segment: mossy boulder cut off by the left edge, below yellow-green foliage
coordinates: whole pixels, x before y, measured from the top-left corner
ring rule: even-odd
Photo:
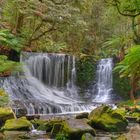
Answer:
[[[2,127],[6,120],[13,118],[15,118],[15,115],[11,108],[0,108],[0,127]]]

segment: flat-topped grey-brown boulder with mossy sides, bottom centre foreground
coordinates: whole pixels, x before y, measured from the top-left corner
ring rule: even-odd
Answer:
[[[81,140],[82,135],[85,133],[95,136],[95,130],[87,124],[85,119],[69,119],[64,121],[62,132],[70,140]]]

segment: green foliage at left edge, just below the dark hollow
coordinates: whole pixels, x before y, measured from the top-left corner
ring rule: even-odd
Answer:
[[[10,74],[13,70],[18,70],[18,68],[19,63],[8,60],[5,55],[0,55],[0,74],[4,72],[9,72]]]

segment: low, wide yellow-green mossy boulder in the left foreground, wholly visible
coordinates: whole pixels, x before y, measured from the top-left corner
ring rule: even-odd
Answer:
[[[32,124],[25,117],[19,119],[10,119],[6,121],[2,129],[7,131],[28,131],[32,129]]]

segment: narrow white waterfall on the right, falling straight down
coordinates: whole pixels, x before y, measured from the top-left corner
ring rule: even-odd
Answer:
[[[112,58],[101,59],[97,65],[97,84],[94,102],[106,103],[110,100],[112,93]]]

